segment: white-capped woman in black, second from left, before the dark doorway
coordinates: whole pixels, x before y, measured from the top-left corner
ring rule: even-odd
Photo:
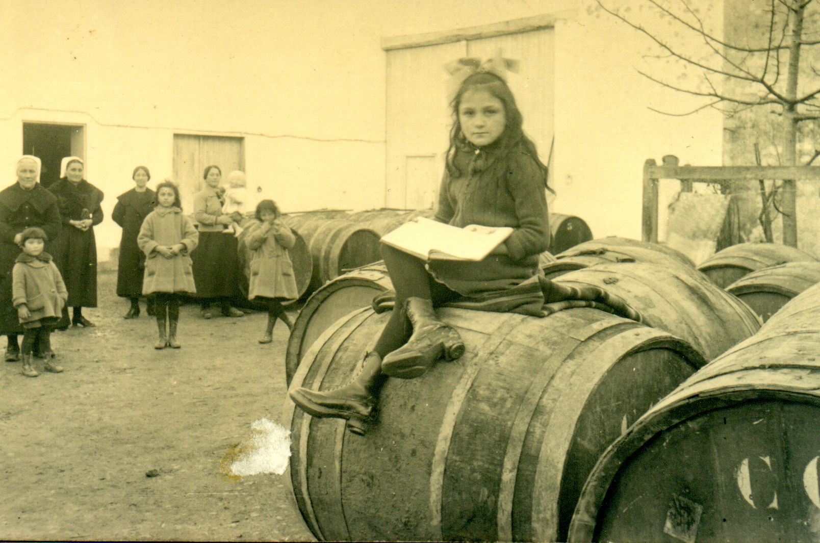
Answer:
[[[83,317],[83,308],[97,307],[97,241],[93,226],[103,221],[103,191],[84,180],[85,164],[80,157],[62,159],[60,179],[48,187],[57,196],[62,230],[54,242],[54,261],[66,281],[68,301],[74,308],[74,326],[94,326]],[[68,326],[68,312],[57,329]]]

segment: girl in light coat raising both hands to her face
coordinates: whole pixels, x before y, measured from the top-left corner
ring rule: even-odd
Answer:
[[[282,302],[299,297],[289,253],[296,238],[280,219],[279,208],[273,200],[258,203],[256,218],[258,222],[248,226],[246,241],[248,249],[253,251],[248,299],[266,303],[267,324],[259,343],[271,343],[277,318],[285,322],[288,330],[293,326]]]

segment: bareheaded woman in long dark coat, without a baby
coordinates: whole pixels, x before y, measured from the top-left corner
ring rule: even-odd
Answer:
[[[116,268],[116,295],[131,300],[125,318],[139,317],[139,296],[143,292],[145,254],[137,246],[139,227],[153,211],[156,194],[148,189],[151,172],[147,167],[134,168],[131,175],[136,186],[117,198],[111,218],[122,227],[120,258]],[[148,315],[152,312],[152,298],[148,298]]]

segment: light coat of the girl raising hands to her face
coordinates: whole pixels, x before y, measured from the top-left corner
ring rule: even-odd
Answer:
[[[257,296],[293,300],[299,297],[290,253],[296,237],[283,221],[248,226],[246,242],[253,251],[248,299]]]

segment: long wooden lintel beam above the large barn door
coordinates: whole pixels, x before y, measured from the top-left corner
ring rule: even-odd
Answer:
[[[462,42],[468,39],[493,38],[505,34],[518,34],[553,28],[555,21],[572,18],[577,10],[555,11],[512,21],[503,21],[491,25],[471,26],[468,28],[428,32],[426,34],[407,34],[403,36],[389,36],[381,39],[381,48],[385,51],[424,47],[426,45],[440,45],[441,43]]]

